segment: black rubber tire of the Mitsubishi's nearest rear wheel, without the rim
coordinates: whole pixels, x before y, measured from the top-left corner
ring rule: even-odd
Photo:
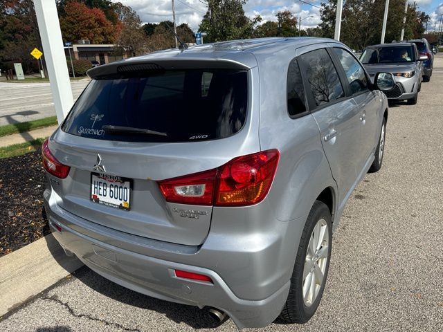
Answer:
[[[314,228],[317,222],[322,222],[322,219],[327,225],[327,261],[325,262],[325,273],[323,274],[323,281],[321,282],[318,295],[316,295],[314,302],[309,306],[305,304],[303,299],[303,270],[305,268],[305,261],[307,259],[307,249],[309,245],[309,240],[311,235],[314,233]],[[324,246],[325,242],[320,248],[326,248]],[[315,201],[312,205],[311,211],[307,217],[305,228],[302,232],[302,237],[300,239],[300,245],[298,246],[296,264],[293,267],[291,286],[289,288],[289,295],[286,303],[283,306],[282,313],[280,317],[289,323],[303,324],[311,319],[311,317],[316,312],[318,305],[320,304],[323,291],[325,289],[327,271],[329,270],[329,261],[331,259],[331,248],[332,248],[332,221],[331,213],[329,208],[325,203],[320,201]]]

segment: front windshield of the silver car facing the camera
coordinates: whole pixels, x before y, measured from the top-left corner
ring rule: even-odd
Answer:
[[[415,53],[413,46],[366,48],[360,60],[363,64],[415,62]]]

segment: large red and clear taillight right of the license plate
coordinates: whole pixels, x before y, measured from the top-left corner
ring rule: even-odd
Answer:
[[[217,169],[159,181],[160,190],[171,203],[252,205],[268,194],[279,157],[277,149],[237,157]]]

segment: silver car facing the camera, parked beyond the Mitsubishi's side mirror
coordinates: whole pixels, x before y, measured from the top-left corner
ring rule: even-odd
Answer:
[[[419,56],[414,43],[368,46],[360,60],[371,78],[379,71],[394,75],[394,89],[384,91],[389,100],[407,100],[408,104],[417,104],[418,93],[422,87],[424,56]]]

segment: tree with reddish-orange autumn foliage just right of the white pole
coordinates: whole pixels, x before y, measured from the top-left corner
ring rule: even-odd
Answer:
[[[100,8],[89,8],[84,3],[69,1],[60,17],[63,39],[77,42],[89,39],[91,44],[114,44],[120,35],[120,21],[112,24]]]

